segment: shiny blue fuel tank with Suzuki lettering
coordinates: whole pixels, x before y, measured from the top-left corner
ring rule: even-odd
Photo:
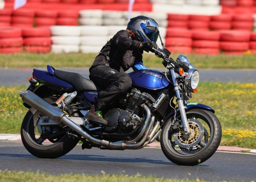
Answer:
[[[157,70],[137,70],[129,73],[132,79],[132,86],[143,87],[150,90],[158,90],[169,85],[168,80]]]

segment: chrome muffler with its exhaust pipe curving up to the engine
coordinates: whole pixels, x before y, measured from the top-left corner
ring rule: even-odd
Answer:
[[[86,131],[83,130],[82,127],[78,126],[72,120],[67,117],[67,114],[59,110],[57,107],[54,107],[52,104],[46,102],[44,99],[40,98],[38,95],[34,94],[31,91],[21,91],[20,97],[22,98],[23,102],[29,104],[31,107],[35,108],[36,110],[44,113],[49,118],[53,119],[58,124],[65,124],[83,138],[87,139],[88,141],[98,145],[99,147],[106,147],[108,149],[140,149],[143,147],[143,144],[146,142],[148,134],[151,130],[151,127],[154,124],[154,116],[150,117],[151,112],[150,109],[144,104],[143,108],[146,110],[147,115],[145,119],[145,125],[147,126],[143,132],[144,135],[140,142],[130,143],[129,141],[118,141],[118,142],[109,142],[105,140],[100,140],[94,138],[93,136],[89,135]]]

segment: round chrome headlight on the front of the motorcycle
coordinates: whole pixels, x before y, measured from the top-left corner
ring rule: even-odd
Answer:
[[[195,90],[199,83],[199,72],[196,69],[188,70],[188,77],[185,78],[186,85],[189,90]]]

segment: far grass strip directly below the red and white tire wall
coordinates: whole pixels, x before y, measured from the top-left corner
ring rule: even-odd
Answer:
[[[176,60],[179,54],[172,54],[171,57]],[[196,55],[185,54],[196,68],[256,68],[255,54],[246,55]],[[47,64],[53,67],[90,67],[97,54],[30,54],[23,52],[21,54],[1,54],[0,67],[46,67]],[[154,54],[143,54],[143,63],[146,67],[163,67],[162,59]]]

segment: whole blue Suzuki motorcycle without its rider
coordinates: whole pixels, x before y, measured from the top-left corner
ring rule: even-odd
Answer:
[[[154,49],[154,48],[153,48]],[[221,142],[221,124],[211,107],[189,103],[197,91],[199,72],[186,56],[174,61],[163,46],[154,49],[165,72],[129,73],[132,89],[118,98],[103,118],[90,122],[90,110],[100,86],[74,72],[34,69],[30,86],[21,91],[29,108],[21,127],[26,149],[39,158],[58,158],[79,141],[82,149],[141,149],[160,141],[165,156],[178,165],[198,165],[210,158]]]

